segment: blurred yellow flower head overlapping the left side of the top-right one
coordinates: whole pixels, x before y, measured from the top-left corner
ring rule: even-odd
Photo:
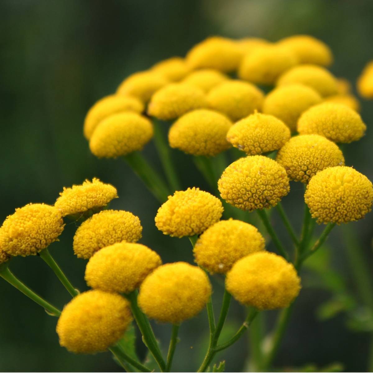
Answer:
[[[286,70],[297,65],[294,53],[286,48],[271,45],[255,48],[245,55],[239,66],[241,79],[257,84],[274,84]]]

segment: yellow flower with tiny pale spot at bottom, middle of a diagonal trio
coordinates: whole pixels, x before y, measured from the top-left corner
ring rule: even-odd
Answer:
[[[213,274],[226,273],[237,260],[261,250],[264,250],[264,238],[257,228],[229,219],[207,228],[193,252],[198,266]]]

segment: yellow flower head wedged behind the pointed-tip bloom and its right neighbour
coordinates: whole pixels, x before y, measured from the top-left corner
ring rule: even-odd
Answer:
[[[319,93],[306,85],[284,85],[275,88],[264,98],[263,113],[278,117],[294,132],[300,115],[321,100]]]

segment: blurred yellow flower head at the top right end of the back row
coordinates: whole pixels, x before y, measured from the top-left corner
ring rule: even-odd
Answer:
[[[279,45],[289,48],[300,63],[329,66],[333,62],[333,53],[323,41],[310,35],[293,35],[283,38]]]

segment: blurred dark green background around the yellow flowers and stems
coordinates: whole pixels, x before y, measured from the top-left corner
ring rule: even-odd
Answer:
[[[271,41],[291,34],[314,35],[332,48],[333,73],[354,83],[367,60],[373,58],[372,15],[370,0],[2,0],[0,220],[29,202],[53,204],[63,186],[97,176],[118,189],[120,198],[111,207],[140,217],[144,227],[142,243],[156,250],[164,262],[192,261],[187,239],[169,238],[156,230],[154,216],[159,204],[127,165],[121,160],[98,160],[91,155],[82,136],[89,107],[112,93],[130,73],[170,56],[183,56],[193,44],[214,34]],[[362,115],[367,135],[345,147],[345,158],[348,165],[373,180],[373,131],[369,128],[372,103],[362,103]],[[144,152],[159,167],[153,144],[147,145]],[[178,152],[175,157],[180,170],[188,169],[182,173],[185,188],[200,186],[208,190],[190,159]],[[291,190],[283,204],[297,224],[303,211],[303,186],[292,183]],[[348,231],[344,231],[345,227],[335,229],[328,247],[323,249],[327,255],[311,263],[321,269],[322,282],[310,269],[311,264],[304,271],[304,288],[275,361],[278,369],[341,362],[347,371],[367,370],[373,322],[369,309],[359,299],[348,253],[356,245],[350,243],[354,241],[353,233],[372,270],[372,222],[371,213],[349,225]],[[276,213],[273,223],[281,233]],[[50,251],[71,281],[84,290],[85,261],[78,260],[72,251],[75,229],[75,223],[69,223],[61,241],[51,245]],[[52,303],[62,307],[69,301],[69,294],[39,257],[15,258],[10,267]],[[213,285],[214,306],[219,307],[222,291],[217,282]],[[345,286],[357,304],[351,297],[345,301],[345,295],[342,300],[338,298],[339,293],[345,293]],[[336,301],[325,305],[332,293]],[[350,306],[348,312],[338,313],[340,308]],[[269,326],[275,316],[276,312],[266,313]],[[244,310],[235,302],[228,319],[229,334],[244,319]],[[108,353],[79,356],[60,348],[56,321],[1,280],[0,370],[120,370]],[[166,349],[170,327],[155,328]],[[174,369],[196,369],[206,349],[206,333],[204,312],[182,325]],[[140,339],[137,347],[143,355]],[[226,358],[226,371],[239,371],[248,369],[248,357],[248,339],[242,338],[216,361]]]

